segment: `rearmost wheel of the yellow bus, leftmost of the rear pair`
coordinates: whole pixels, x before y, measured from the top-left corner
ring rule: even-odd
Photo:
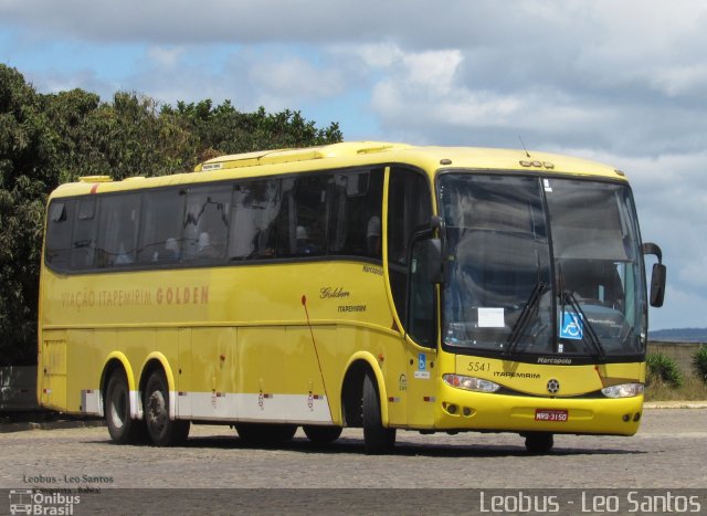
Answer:
[[[130,418],[130,392],[122,371],[114,371],[106,387],[106,424],[113,442],[133,444],[144,442],[146,429],[143,421]]]

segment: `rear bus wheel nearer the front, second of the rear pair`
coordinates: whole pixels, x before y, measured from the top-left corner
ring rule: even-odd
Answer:
[[[147,431],[157,446],[183,444],[189,435],[189,421],[169,418],[169,390],[161,371],[155,371],[145,389],[145,421]]]

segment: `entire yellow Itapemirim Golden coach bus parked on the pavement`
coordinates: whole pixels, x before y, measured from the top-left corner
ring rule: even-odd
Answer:
[[[38,396],[117,443],[209,422],[546,452],[637,431],[664,288],[624,173],[566,156],[368,141],[86,177],[48,204]]]

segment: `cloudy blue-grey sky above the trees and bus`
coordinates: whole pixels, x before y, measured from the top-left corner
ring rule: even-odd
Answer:
[[[625,171],[668,267],[652,329],[707,327],[706,57],[704,0],[0,0],[0,62],[41,93],[289,108],[349,141],[520,137]]]

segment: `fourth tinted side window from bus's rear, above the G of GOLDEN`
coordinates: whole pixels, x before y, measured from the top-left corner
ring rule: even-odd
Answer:
[[[181,222],[186,194],[180,189],[144,193],[137,263],[176,263],[181,257]]]

